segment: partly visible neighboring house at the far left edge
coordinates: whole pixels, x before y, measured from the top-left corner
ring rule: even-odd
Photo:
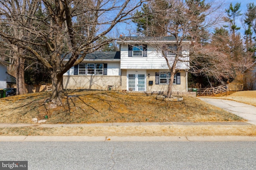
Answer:
[[[7,73],[5,63],[0,63],[0,89],[10,88],[13,84],[16,84],[16,79]]]

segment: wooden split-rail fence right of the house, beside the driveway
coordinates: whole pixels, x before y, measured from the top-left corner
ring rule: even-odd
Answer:
[[[228,91],[227,86],[218,86],[214,88],[200,88],[197,89],[198,96],[214,96],[220,93],[226,93]]]

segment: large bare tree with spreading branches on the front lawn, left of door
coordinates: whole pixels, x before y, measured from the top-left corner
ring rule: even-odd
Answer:
[[[144,0],[2,0],[0,36],[32,54],[51,72],[52,96],[64,98],[63,74],[113,39],[102,41],[117,23],[132,19]],[[17,14],[16,8],[20,9]],[[20,15],[20,18],[16,18]],[[24,22],[27,21],[27,22]],[[14,29],[21,31],[14,35]],[[66,54],[71,57],[66,63]]]

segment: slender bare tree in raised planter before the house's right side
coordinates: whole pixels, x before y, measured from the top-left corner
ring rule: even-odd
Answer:
[[[194,51],[203,48],[202,39],[208,34],[206,30],[216,25],[221,18],[221,15],[214,16],[214,12],[220,8],[221,4],[213,6],[204,0],[186,0],[185,2],[171,0],[170,3],[172,8],[168,11],[167,33],[174,36],[176,42],[171,47],[170,45],[164,45],[162,48],[162,55],[166,59],[171,74],[167,93],[168,98],[172,94],[174,76],[179,71],[177,64],[179,62],[190,63],[192,60],[190,57],[195,56]],[[190,41],[189,44],[188,41]],[[175,58],[171,60],[172,62],[170,62],[165,51],[176,54]]]

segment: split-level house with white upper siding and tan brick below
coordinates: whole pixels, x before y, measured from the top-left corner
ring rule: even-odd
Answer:
[[[156,39],[156,38],[154,38]],[[166,92],[170,72],[162,51],[155,47],[158,43],[170,45],[174,37],[162,37],[152,41],[151,37],[120,37],[117,43],[120,52],[94,52],[86,55],[84,61],[64,74],[66,89],[127,90],[140,92]],[[189,41],[184,41],[189,44]],[[166,53],[170,63],[174,53]],[[182,49],[186,62],[178,62],[178,72],[174,78],[173,92],[187,92],[188,50]],[[186,57],[187,56],[187,57]],[[64,59],[64,62],[67,59]]]

